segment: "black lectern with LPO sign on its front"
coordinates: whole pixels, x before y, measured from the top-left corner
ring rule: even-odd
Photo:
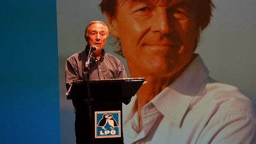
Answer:
[[[144,81],[126,78],[73,82],[67,99],[75,107],[76,144],[123,143],[122,103],[128,104]]]

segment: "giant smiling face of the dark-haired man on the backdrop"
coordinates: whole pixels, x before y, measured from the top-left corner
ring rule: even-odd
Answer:
[[[132,76],[172,75],[189,62],[199,37],[196,14],[184,1],[123,1],[107,20]]]

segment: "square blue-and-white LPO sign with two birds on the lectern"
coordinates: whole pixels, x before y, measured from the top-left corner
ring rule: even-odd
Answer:
[[[121,111],[95,111],[95,138],[121,137]]]

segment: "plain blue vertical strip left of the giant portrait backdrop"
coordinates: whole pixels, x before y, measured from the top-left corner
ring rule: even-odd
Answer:
[[[60,143],[56,1],[1,1],[0,17],[0,143]]]

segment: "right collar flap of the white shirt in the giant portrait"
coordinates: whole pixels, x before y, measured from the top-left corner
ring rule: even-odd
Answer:
[[[164,117],[180,127],[191,101],[208,76],[209,71],[198,55],[187,69],[151,102]]]

